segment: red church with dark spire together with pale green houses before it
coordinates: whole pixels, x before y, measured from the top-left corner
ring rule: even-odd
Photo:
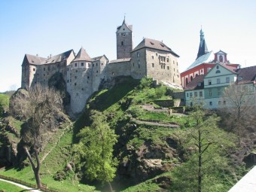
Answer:
[[[248,105],[256,105],[256,66],[241,68],[239,64],[231,63],[223,50],[209,51],[201,29],[197,59],[181,73],[185,105],[191,106],[197,101],[204,108],[227,107],[233,97],[227,96],[227,87],[231,84],[236,85],[236,90],[240,89],[232,93],[242,97],[237,100],[251,99]]]

